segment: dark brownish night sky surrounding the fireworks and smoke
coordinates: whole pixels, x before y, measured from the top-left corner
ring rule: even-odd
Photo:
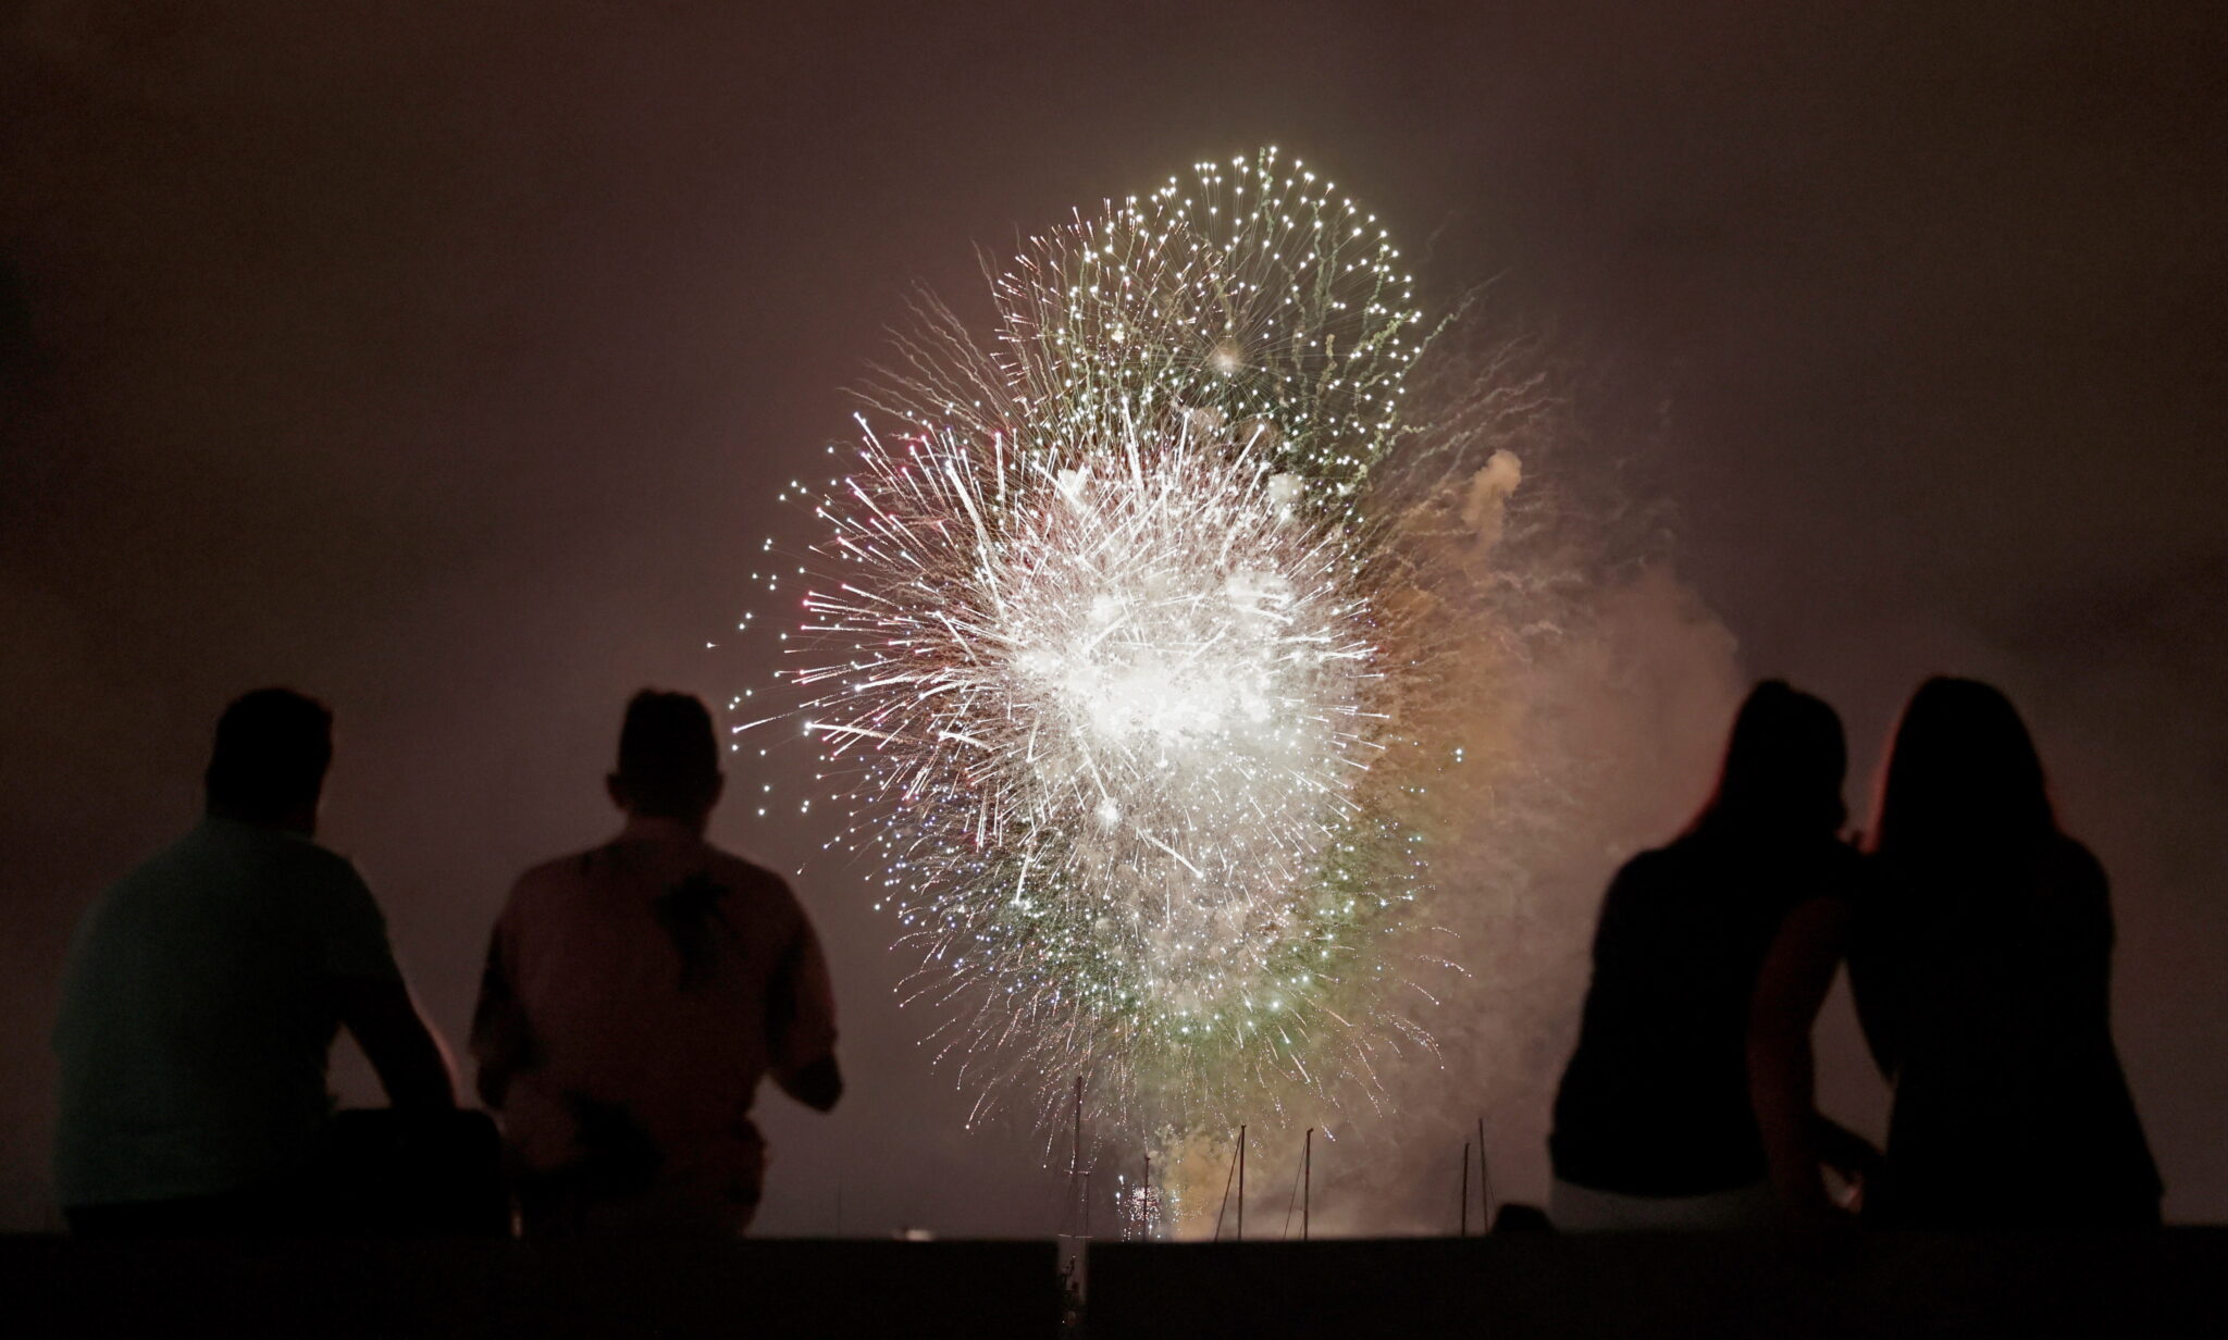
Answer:
[[[1261,142],[1428,296],[1497,280],[1609,370],[1595,410],[1651,430],[1586,452],[1860,768],[1921,674],[2012,692],[2114,875],[2168,1211],[2228,1218],[2206,9],[0,9],[0,1226],[51,1215],[69,926],[192,819],[227,697],[336,706],[328,837],[459,1037],[508,879],[610,826],[624,694],[758,672],[704,643],[905,292]],[[842,1186],[847,1231],[1047,1231],[1056,1180],[960,1133],[844,884],[802,879],[856,1091],[766,1104],[766,1226],[827,1231]]]

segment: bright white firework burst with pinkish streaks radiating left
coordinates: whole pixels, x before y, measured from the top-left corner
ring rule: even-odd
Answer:
[[[1294,890],[1359,812],[1372,650],[1350,545],[1286,476],[1181,418],[1118,456],[991,470],[947,441],[853,481],[869,508],[842,550],[902,530],[938,577],[807,599],[815,630],[885,648],[820,672],[842,690],[813,730],[954,770],[936,790],[905,770],[913,821],[969,835],[969,859],[1005,853],[1014,922],[1087,917],[1101,962],[1134,977],[1116,995],[1150,986],[1212,1028],[1250,1006]]]

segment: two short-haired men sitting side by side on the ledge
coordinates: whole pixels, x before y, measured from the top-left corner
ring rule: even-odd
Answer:
[[[216,728],[203,824],[80,922],[53,1031],[74,1231],[486,1224],[374,1204],[397,1186],[497,1186],[497,1155],[488,1117],[455,1111],[448,1053],[370,888],[314,841],[330,761],[321,703],[238,699]],[[637,694],[608,779],[626,828],[530,870],[504,908],[472,1046],[481,1097],[506,1111],[528,1233],[740,1233],[764,1164],[749,1120],[760,1075],[822,1111],[842,1093],[804,910],[704,841],[722,781],[704,706]],[[343,1026],[408,1131],[374,1122],[365,1140],[352,1113],[332,1120]],[[448,1160],[443,1178],[423,1175],[428,1157]],[[499,1186],[495,1204],[501,1226]]]

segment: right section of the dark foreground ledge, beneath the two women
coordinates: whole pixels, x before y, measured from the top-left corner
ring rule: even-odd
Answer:
[[[1089,1340],[2228,1336],[2228,1229],[1092,1244]]]

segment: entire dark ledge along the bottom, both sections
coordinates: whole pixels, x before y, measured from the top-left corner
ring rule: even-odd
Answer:
[[[1089,1340],[2221,1336],[2228,1229],[1094,1244]],[[1052,1242],[0,1238],[0,1336],[1054,1340]]]

